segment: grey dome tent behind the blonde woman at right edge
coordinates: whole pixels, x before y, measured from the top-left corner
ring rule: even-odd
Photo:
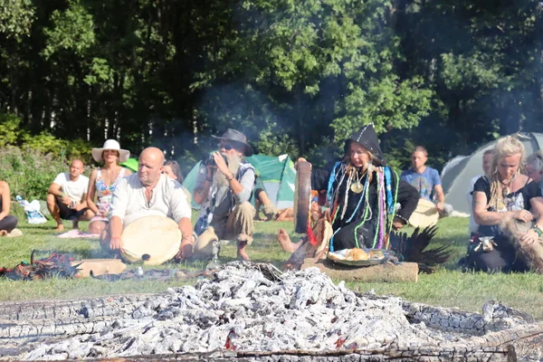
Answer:
[[[543,148],[543,133],[521,133],[520,141],[525,148],[526,156]],[[454,210],[471,214],[466,193],[473,177],[482,173],[482,154],[487,149],[494,148],[496,141],[492,141],[477,149],[470,156],[452,158],[442,171],[442,185],[447,204],[451,204]]]

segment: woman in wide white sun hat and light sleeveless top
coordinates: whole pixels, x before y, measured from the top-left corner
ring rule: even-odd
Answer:
[[[102,148],[92,148],[92,158],[96,162],[103,162],[104,166],[90,173],[87,205],[96,214],[90,220],[90,233],[101,233],[108,225],[113,191],[122,177],[132,174],[128,168],[119,166],[119,163],[126,162],[129,157],[130,152],[121,149],[119,142],[115,139],[108,139]],[[94,196],[96,196],[96,203]]]

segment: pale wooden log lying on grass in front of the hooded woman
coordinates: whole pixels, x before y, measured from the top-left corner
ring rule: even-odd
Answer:
[[[326,260],[314,262],[313,259],[306,259],[301,265],[301,269],[311,267],[319,268],[330,278],[341,281],[418,281],[418,264],[416,262],[402,262],[397,265],[386,262],[363,268],[354,268]]]

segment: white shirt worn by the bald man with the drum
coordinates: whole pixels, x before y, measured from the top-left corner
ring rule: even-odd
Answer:
[[[119,216],[124,226],[127,226],[140,217],[150,215],[167,216],[176,223],[184,217],[190,219],[190,206],[181,184],[166,175],[160,175],[148,203],[145,186],[139,181],[137,173],[122,178],[113,191],[109,218]]]

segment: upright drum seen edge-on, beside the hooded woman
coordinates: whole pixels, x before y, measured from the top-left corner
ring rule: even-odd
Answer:
[[[294,189],[294,231],[307,233],[311,209],[311,164],[299,162]]]

